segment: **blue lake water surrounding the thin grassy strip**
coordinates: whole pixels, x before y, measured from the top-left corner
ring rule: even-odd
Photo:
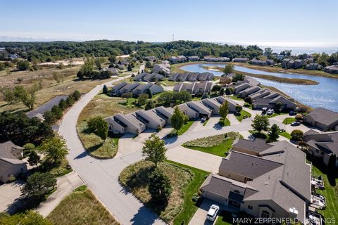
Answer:
[[[214,75],[223,75],[223,72],[205,70],[204,68],[202,68],[202,66],[225,67],[224,64],[198,63],[185,65],[181,69],[189,72],[212,72]],[[299,101],[305,105],[310,105],[313,108],[323,107],[338,112],[338,79],[280,72],[265,72],[261,70],[244,68],[238,65],[234,66],[234,70],[250,72],[252,74],[273,75],[276,77],[311,79],[315,82],[319,82],[318,85],[299,85],[283,84],[279,82],[273,82],[267,79],[255,78],[259,82],[261,82],[261,84],[274,86],[275,88],[280,89],[280,91],[283,91],[285,94],[296,99],[296,101]]]

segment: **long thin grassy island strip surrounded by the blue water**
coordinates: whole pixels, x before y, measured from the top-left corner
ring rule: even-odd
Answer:
[[[216,67],[216,66],[204,66],[202,67],[205,70],[211,70],[211,71],[217,71],[222,72],[223,68]],[[249,76],[249,77],[256,77],[261,79],[267,79],[273,82],[279,82],[284,84],[299,84],[299,85],[317,85],[319,82],[315,82],[311,79],[299,79],[299,78],[286,78],[286,77],[277,77],[273,75],[259,75],[259,74],[253,74],[250,72],[242,72],[238,70],[234,70],[236,73],[242,73],[243,75]]]

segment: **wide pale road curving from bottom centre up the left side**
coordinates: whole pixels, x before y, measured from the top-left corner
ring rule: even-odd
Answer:
[[[140,70],[143,69],[144,67],[140,68]],[[113,82],[125,78],[127,77],[121,77],[105,84],[110,86]],[[77,118],[82,109],[102,90],[103,86],[104,84],[101,84],[89,91],[63,117],[59,134],[63,136],[70,150],[67,155],[68,162],[121,224],[164,224],[156,214],[144,207],[134,195],[127,192],[118,183],[120,172],[128,165],[142,159],[141,151],[136,150],[129,155],[122,155],[120,158],[96,160],[88,155],[77,136]]]

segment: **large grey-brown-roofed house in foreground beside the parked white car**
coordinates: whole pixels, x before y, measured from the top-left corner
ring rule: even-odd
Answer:
[[[232,150],[218,175],[209,175],[202,184],[202,196],[253,217],[304,223],[311,201],[311,165],[305,153],[287,141],[269,145],[263,146],[260,156]]]

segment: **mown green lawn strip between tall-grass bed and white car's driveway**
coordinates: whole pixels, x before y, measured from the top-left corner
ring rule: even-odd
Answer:
[[[184,201],[183,201],[182,210],[180,214],[178,214],[173,221],[173,224],[177,224],[177,225],[182,224],[182,221],[184,221],[184,224],[189,224],[190,219],[192,219],[192,216],[194,215],[194,213],[199,207],[199,205],[197,205],[196,203],[192,201],[192,196],[199,192],[199,187],[201,186],[201,184],[203,184],[209,172],[206,172],[201,169],[196,169],[194,167],[189,167],[187,165],[182,165],[178,162],[172,162],[172,161],[168,161],[168,162],[173,163],[174,165],[183,167],[185,169],[189,169],[190,172],[194,174],[192,181],[190,181],[187,188],[185,188],[184,190]]]

